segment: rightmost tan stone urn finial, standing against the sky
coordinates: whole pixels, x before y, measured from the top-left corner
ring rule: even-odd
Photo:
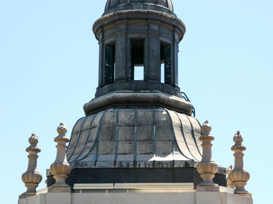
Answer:
[[[250,179],[250,174],[244,169],[244,153],[246,147],[242,145],[243,137],[238,131],[233,138],[235,144],[232,146],[232,151],[234,151],[235,165],[234,170],[230,173],[230,178],[235,187],[234,193],[237,195],[250,197],[250,193],[245,190],[245,186]]]

